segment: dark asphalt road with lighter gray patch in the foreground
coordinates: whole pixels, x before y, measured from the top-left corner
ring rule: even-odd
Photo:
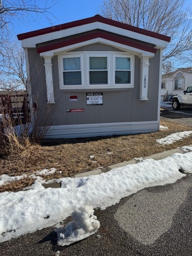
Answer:
[[[0,255],[192,256],[191,199],[192,174],[187,174],[174,184],[145,188],[95,210],[101,227],[81,242],[59,247],[50,227],[1,243]]]

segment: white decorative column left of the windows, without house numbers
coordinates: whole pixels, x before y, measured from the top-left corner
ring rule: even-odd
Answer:
[[[52,63],[51,56],[43,56],[44,58],[44,66],[46,72],[46,87],[47,87],[47,98],[48,103],[55,103],[54,99],[54,90],[53,90],[53,73],[52,73]]]

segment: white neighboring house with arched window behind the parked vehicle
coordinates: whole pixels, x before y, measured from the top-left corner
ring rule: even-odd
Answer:
[[[192,85],[192,68],[178,68],[174,72],[162,75],[161,98],[168,92],[168,100],[173,95],[182,93]]]

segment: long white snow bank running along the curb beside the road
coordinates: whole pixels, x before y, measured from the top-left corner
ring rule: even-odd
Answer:
[[[79,207],[103,210],[143,188],[176,182],[185,176],[179,170],[192,172],[192,152],[145,159],[96,176],[55,180],[61,188],[44,188],[40,179],[30,190],[0,193],[0,242],[48,226],[60,228],[59,222]]]

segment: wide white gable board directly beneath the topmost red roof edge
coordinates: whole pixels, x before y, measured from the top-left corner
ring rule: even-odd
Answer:
[[[140,34],[140,33],[137,33],[137,32],[133,32],[133,31],[123,29],[123,28],[118,28],[116,26],[108,25],[108,24],[105,24],[105,23],[102,23],[102,22],[93,22],[93,23],[90,23],[90,24],[76,26],[76,27],[73,27],[73,28],[67,28],[67,29],[63,29],[63,30],[43,34],[43,35],[40,35],[40,36],[34,36],[34,37],[31,37],[31,38],[23,39],[22,40],[22,47],[24,47],[24,48],[35,48],[36,44],[40,44],[42,42],[48,42],[48,41],[51,41],[51,40],[55,40],[55,39],[63,38],[63,37],[66,37],[66,36],[71,36],[71,35],[87,32],[87,31],[91,31],[91,30],[95,30],[95,29],[105,30],[105,31],[108,31],[108,32],[118,34],[120,36],[127,36],[127,37],[133,38],[135,40],[140,40],[140,41],[143,41],[143,42],[154,44],[156,46],[156,48],[166,48],[166,46],[167,46],[166,41],[160,40],[158,38],[154,38],[152,36],[146,36],[146,35],[143,35],[143,34]]]

